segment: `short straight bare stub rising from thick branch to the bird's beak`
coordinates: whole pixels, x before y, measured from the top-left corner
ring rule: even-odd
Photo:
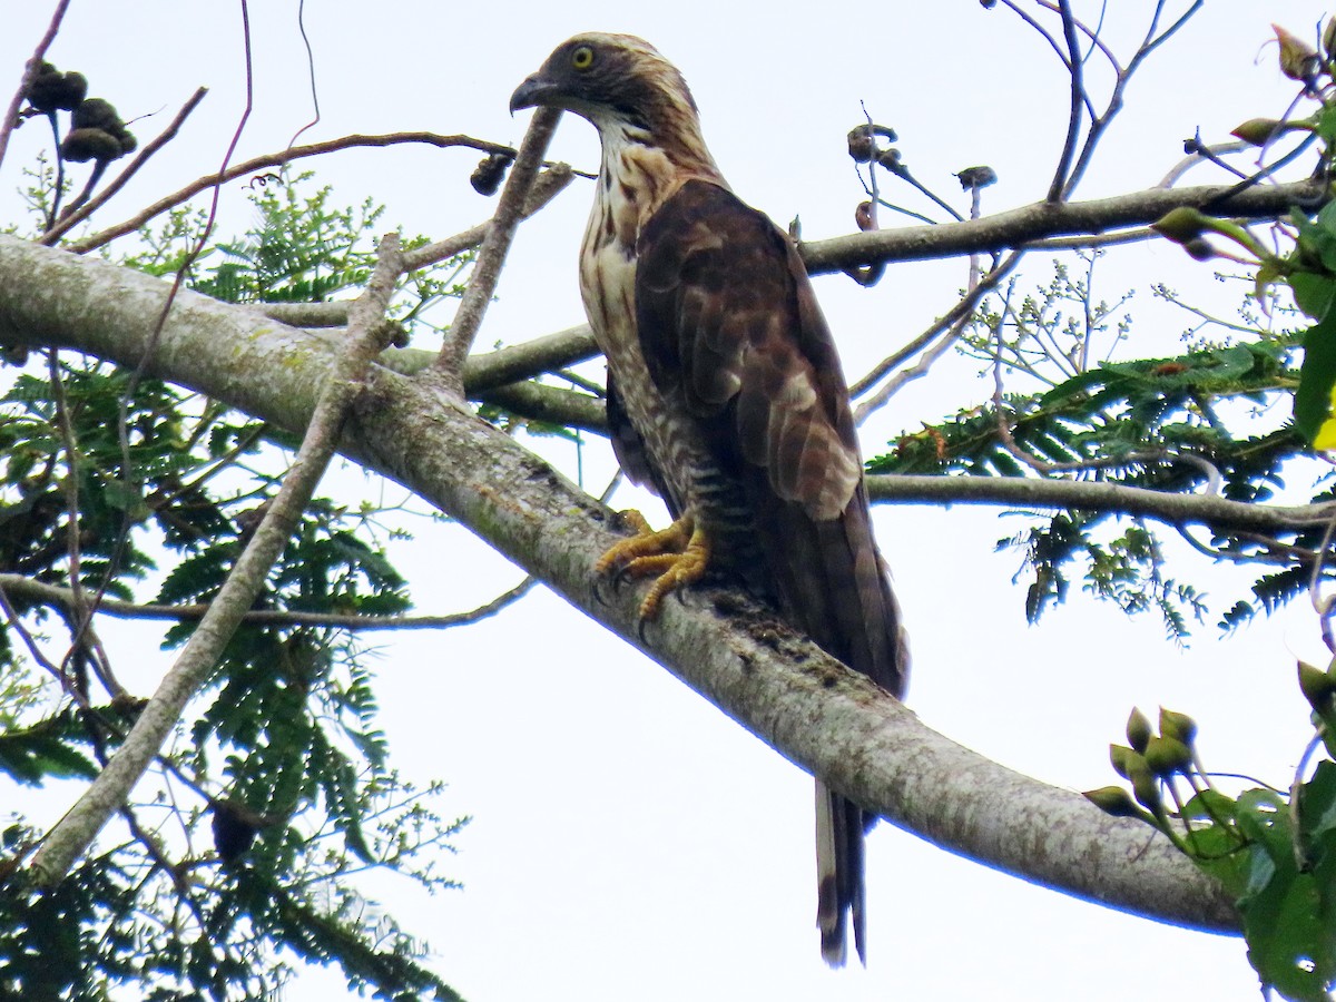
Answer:
[[[542,154],[548,148],[548,143],[552,142],[552,134],[560,120],[560,110],[538,108],[529,122],[529,130],[524,135],[524,142],[520,143],[520,152],[510,168],[510,176],[506,178],[505,187],[501,190],[496,215],[492,218],[488,235],[478,251],[469,289],[454,315],[449,335],[441,346],[441,355],[437,358],[433,377],[456,399],[464,399],[464,359],[469,355],[473,338],[482,325],[484,314],[486,314],[488,303],[492,302],[492,294],[501,278],[501,267],[510,250],[514,230],[524,218],[529,190],[538,176]]]

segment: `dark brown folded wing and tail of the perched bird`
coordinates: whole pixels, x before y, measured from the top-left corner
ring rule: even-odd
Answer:
[[[908,663],[848,390],[790,240],[725,188],[685,183],[641,232],[636,319],[655,383],[669,399],[680,391],[717,468],[743,485],[782,613],[900,696]],[[832,962],[846,911],[863,954],[863,831],[874,820],[818,786],[818,918]]]

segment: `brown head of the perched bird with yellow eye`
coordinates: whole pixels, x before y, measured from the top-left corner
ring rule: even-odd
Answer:
[[[672,63],[632,35],[589,32],[557,45],[510,96],[510,112],[564,108],[603,130],[625,124],[651,135],[695,126],[696,102]]]

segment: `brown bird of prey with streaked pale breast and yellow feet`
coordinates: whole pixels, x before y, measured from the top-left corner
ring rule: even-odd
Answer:
[[[588,119],[603,142],[580,290],[608,359],[627,474],[673,522],[613,546],[600,574],[669,592],[744,585],[823,649],[902,696],[899,609],[872,538],[835,343],[792,240],[745,206],[701,138],[681,73],[641,39],[577,35],[510,98]],[[633,514],[633,513],[632,513]],[[866,962],[863,835],[875,816],[816,783],[822,955]]]

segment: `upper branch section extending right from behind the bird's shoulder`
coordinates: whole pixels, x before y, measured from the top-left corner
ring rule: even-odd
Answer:
[[[888,261],[931,261],[965,254],[986,254],[1050,236],[1096,234],[1146,226],[1170,208],[1192,206],[1218,216],[1269,219],[1292,206],[1316,208],[1328,199],[1321,183],[1255,186],[1224,198],[1229,186],[1149,188],[1130,195],[1053,204],[1037,202],[1021,208],[939,226],[850,234],[799,246],[807,270],[816,274]]]

